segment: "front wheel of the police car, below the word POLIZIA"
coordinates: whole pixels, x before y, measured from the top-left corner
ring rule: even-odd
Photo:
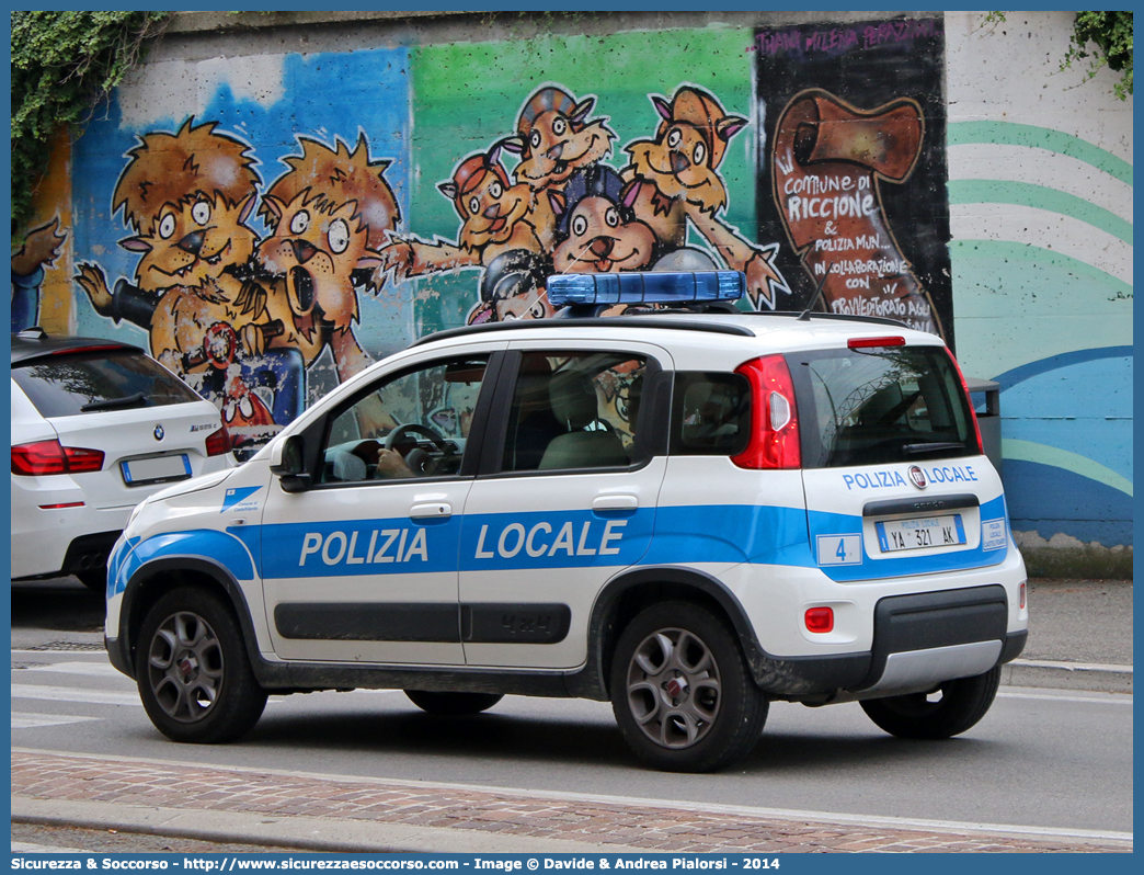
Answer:
[[[173,741],[233,741],[254,728],[267,705],[235,612],[194,586],[172,590],[148,612],[135,679],[151,723]]]

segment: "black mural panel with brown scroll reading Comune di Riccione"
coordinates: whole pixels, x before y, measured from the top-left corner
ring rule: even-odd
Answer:
[[[760,234],[789,242],[792,304],[821,286],[820,309],[952,345],[940,22],[761,29],[754,49]]]

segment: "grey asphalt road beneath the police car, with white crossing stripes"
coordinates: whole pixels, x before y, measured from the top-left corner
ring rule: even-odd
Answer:
[[[97,630],[98,605],[55,584],[14,590],[13,733],[19,748],[339,775],[564,790],[675,803],[1130,831],[1131,697],[1006,687],[946,742],[906,742],[857,704],[776,703],[754,752],[715,775],[635,764],[606,703],[506,697],[474,718],[429,717],[400,692],[271,699],[240,743],[178,746],[153,730],[102,653],[35,648]],[[85,618],[86,617],[86,618]],[[92,636],[93,638],[95,636]]]

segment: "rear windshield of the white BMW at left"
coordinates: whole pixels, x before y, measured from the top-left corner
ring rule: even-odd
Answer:
[[[13,368],[11,376],[46,419],[200,400],[175,375],[138,353],[55,355]]]

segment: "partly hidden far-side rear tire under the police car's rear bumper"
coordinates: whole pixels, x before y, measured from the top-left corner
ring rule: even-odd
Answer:
[[[899,739],[948,739],[974,726],[993,704],[1001,667],[947,680],[934,693],[911,693],[859,702],[880,728]],[[939,696],[939,697],[934,697]]]

